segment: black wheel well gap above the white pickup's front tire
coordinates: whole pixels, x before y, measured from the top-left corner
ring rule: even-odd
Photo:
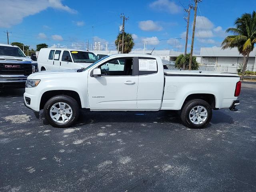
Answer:
[[[72,90],[50,90],[50,91],[46,91],[46,92],[44,92],[44,94],[42,94],[42,97],[41,97],[41,100],[40,100],[40,110],[44,108],[44,105],[46,104],[46,102],[50,98],[52,98],[56,95],[68,95],[68,96],[74,98],[78,102],[80,109],[82,108],[80,96],[76,91],[72,91]]]

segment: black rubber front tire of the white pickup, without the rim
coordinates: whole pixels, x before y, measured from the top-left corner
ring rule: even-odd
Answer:
[[[64,102],[72,108],[72,116],[70,120],[68,120],[67,122],[63,122],[63,123],[55,122],[50,116],[50,108],[58,102]],[[65,128],[65,127],[70,127],[72,124],[74,124],[78,120],[79,112],[80,112],[79,110],[80,110],[79,104],[74,98],[67,95],[57,95],[50,98],[44,105],[44,117],[50,125],[58,128]]]

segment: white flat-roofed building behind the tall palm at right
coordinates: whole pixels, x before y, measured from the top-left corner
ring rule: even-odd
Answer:
[[[226,72],[230,73],[236,73],[244,59],[237,48],[222,50],[221,47],[201,48],[200,57],[200,63],[225,68]],[[249,55],[247,70],[256,71],[256,48]]]

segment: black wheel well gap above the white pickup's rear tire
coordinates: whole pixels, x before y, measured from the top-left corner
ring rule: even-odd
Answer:
[[[216,98],[215,98],[214,94],[196,93],[196,94],[190,94],[189,96],[186,97],[186,99],[182,105],[182,108],[189,100],[192,100],[192,99],[202,99],[202,100],[208,102],[212,109],[214,109],[216,106]]]

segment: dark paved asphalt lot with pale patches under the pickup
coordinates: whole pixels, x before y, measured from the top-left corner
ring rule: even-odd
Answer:
[[[255,83],[204,129],[170,112],[82,112],[53,128],[23,92],[0,92],[1,192],[256,191]]]

